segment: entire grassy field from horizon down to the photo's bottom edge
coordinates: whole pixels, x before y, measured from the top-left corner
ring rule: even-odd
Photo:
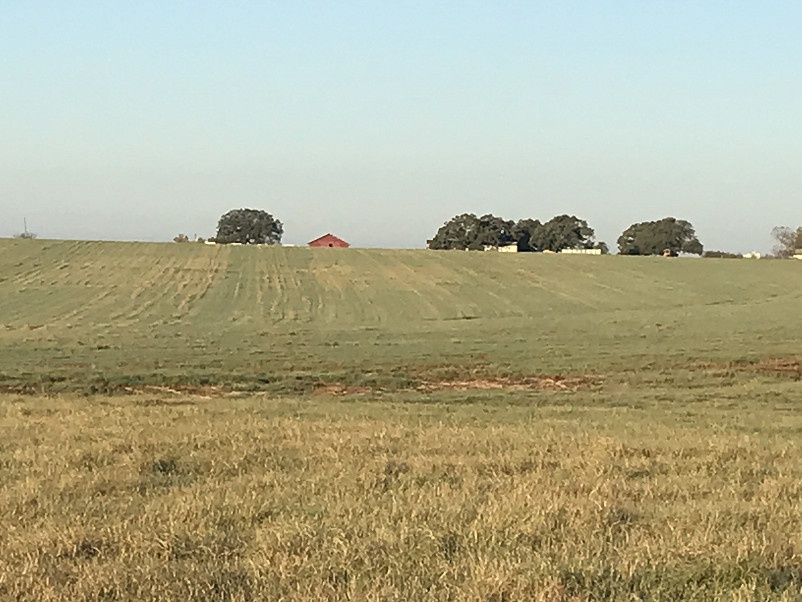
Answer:
[[[0,600],[802,599],[802,262],[0,240]]]

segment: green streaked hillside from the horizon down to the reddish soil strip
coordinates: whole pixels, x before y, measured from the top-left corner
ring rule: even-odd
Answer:
[[[0,387],[282,392],[760,361],[798,353],[800,308],[790,260],[5,239]]]

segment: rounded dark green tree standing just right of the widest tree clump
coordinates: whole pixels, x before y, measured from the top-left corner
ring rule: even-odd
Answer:
[[[666,250],[701,255],[703,247],[691,223],[674,217],[632,224],[618,237],[622,255],[660,255]]]

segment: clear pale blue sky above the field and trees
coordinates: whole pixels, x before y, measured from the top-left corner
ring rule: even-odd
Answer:
[[[0,236],[210,236],[265,209],[421,247],[576,214],[615,246],[802,225],[802,2],[0,2]]]

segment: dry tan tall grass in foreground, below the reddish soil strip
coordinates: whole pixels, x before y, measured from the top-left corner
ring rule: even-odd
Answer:
[[[0,599],[802,599],[782,398],[483,395],[0,398]]]

